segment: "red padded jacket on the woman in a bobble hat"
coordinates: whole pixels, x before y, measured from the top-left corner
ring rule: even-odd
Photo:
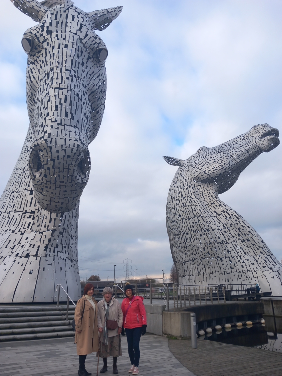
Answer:
[[[128,298],[124,298],[121,303],[121,310],[123,311],[124,323],[123,327],[126,329],[134,329],[147,325],[146,310],[143,303],[142,296],[135,296],[132,303]],[[127,314],[127,307],[130,305]]]

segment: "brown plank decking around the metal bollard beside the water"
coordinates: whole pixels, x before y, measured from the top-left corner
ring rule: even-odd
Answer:
[[[171,353],[197,376],[281,376],[282,353],[208,340],[168,340]]]

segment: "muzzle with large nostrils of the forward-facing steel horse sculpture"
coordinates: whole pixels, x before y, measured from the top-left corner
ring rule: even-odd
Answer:
[[[52,144],[52,138],[50,144],[39,140],[29,157],[34,196],[39,205],[53,212],[73,209],[89,178],[88,148],[79,144],[75,136],[69,138],[66,147],[56,141]]]

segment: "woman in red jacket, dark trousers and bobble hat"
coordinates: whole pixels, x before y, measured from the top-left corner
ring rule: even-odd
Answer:
[[[127,282],[125,286],[126,298],[121,303],[121,310],[123,311],[123,328],[126,332],[128,355],[131,362],[131,368],[128,372],[133,375],[138,375],[140,350],[139,341],[141,335],[146,333],[147,320],[146,311],[142,296],[135,296],[133,293],[133,286]],[[121,335],[124,334],[122,328]]]

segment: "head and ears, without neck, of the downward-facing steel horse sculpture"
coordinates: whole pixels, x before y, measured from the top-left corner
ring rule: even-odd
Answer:
[[[105,108],[108,50],[95,30],[106,29],[122,7],[86,13],[70,0],[11,1],[38,22],[22,39],[34,195],[43,209],[67,212],[87,184],[88,145]]]

